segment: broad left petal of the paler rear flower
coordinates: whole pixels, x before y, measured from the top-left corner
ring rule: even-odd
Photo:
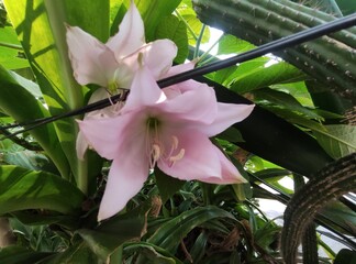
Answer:
[[[118,67],[113,53],[78,26],[67,26],[66,37],[74,76],[78,84],[107,87]]]

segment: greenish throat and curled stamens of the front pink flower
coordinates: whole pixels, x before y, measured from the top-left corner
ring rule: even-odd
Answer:
[[[170,136],[170,142],[163,142],[159,138],[160,121],[148,118],[146,128],[146,154],[149,156],[149,168],[153,169],[158,161],[163,161],[171,167],[185,156],[185,148],[179,148],[179,140],[176,135]],[[165,144],[166,143],[166,144]],[[168,150],[165,146],[169,146]]]

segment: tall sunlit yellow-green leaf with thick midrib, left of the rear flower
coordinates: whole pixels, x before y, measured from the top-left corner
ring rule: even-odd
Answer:
[[[4,3],[49,112],[58,114],[82,106],[84,92],[73,77],[65,43],[65,23],[105,40],[109,36],[109,0],[5,0]],[[77,125],[74,119],[60,120],[55,125],[71,173],[86,193],[87,164],[76,157],[75,150]]]

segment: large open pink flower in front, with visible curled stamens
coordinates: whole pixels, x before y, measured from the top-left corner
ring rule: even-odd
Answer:
[[[253,108],[219,103],[211,87],[193,80],[162,90],[146,66],[138,68],[120,114],[78,121],[99,155],[113,160],[98,219],[123,209],[155,165],[185,180],[244,183],[209,138],[248,117]]]

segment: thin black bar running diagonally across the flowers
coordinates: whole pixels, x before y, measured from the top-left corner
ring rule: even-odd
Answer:
[[[318,25],[318,26],[301,31],[293,35],[279,38],[277,41],[272,41],[270,43],[264,44],[259,47],[256,47],[256,48],[248,51],[246,53],[236,55],[234,57],[231,57],[231,58],[227,58],[224,61],[220,61],[220,62],[215,62],[215,63],[212,63],[212,64],[199,67],[199,68],[194,68],[194,69],[188,70],[188,72],[171,76],[169,78],[158,80],[157,84],[159,85],[160,88],[164,88],[164,87],[175,85],[175,84],[178,84],[178,82],[191,79],[191,78],[196,78],[196,77],[199,77],[199,76],[202,76],[202,75],[205,75],[205,74],[225,68],[225,67],[230,67],[232,65],[236,65],[238,63],[247,62],[249,59],[263,56],[267,53],[272,53],[272,52],[280,51],[280,50],[283,50],[287,47],[291,47],[293,45],[301,44],[303,42],[312,41],[314,38],[325,35],[325,34],[330,34],[330,33],[333,33],[333,32],[336,32],[340,30],[344,30],[344,29],[347,29],[353,25],[356,25],[356,13],[334,20],[332,22],[329,22],[329,23],[325,23],[322,25]],[[122,100],[120,95],[111,97],[111,101],[113,101],[113,102],[116,102],[120,100]],[[64,114],[58,114],[58,116],[54,116],[51,118],[37,119],[34,121],[21,122],[18,124],[0,127],[0,130],[15,128],[15,127],[27,127],[21,131],[18,131],[11,135],[4,136],[0,140],[9,139],[15,134],[19,134],[19,133],[22,133],[25,131],[30,131],[32,129],[40,127],[40,125],[43,125],[43,124],[46,124],[49,122],[54,122],[54,121],[63,119],[63,118],[74,117],[74,116],[82,114],[86,112],[94,111],[98,109],[102,109],[102,108],[110,106],[110,103],[111,102],[109,99],[103,99],[103,100],[97,101],[94,103],[88,105],[84,108],[66,112]]]

